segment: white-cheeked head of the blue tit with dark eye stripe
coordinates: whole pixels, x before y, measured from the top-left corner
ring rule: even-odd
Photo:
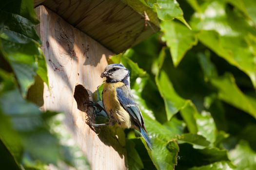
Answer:
[[[110,64],[101,73],[100,77],[106,77],[107,82],[121,82],[129,78],[130,71],[121,64]]]

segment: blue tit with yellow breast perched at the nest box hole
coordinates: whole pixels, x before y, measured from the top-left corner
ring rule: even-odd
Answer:
[[[106,77],[102,102],[110,117],[110,124],[138,130],[151,148],[152,144],[147,136],[144,120],[131,93],[130,71],[121,64],[111,64],[105,68],[100,77]]]

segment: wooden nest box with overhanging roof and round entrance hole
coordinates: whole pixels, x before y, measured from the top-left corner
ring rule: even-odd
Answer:
[[[101,85],[107,59],[157,32],[156,14],[137,0],[35,0],[49,87],[39,78],[30,98],[43,110],[65,113],[64,123],[92,170],[128,168],[122,129],[87,123],[83,102]]]

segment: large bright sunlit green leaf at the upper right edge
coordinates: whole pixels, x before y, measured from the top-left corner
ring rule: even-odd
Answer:
[[[231,65],[244,71],[256,87],[255,54],[251,43],[256,29],[225,1],[207,1],[191,20],[199,41]],[[250,43],[249,43],[250,42]]]

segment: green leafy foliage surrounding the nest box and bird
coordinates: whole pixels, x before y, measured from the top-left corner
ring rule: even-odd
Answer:
[[[131,70],[153,143],[150,151],[125,130],[129,169],[255,170],[256,1],[138,0],[132,6],[141,5],[157,14],[161,31],[111,58]],[[0,2],[1,169],[45,169],[59,161],[88,169],[86,158],[73,154],[78,148],[59,141],[68,137],[56,128],[61,114],[26,100],[36,75],[48,83],[37,23],[32,0]]]

